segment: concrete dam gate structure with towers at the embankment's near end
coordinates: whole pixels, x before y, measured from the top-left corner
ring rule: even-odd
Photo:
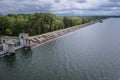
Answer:
[[[30,48],[30,40],[27,33],[21,33],[19,39],[12,39],[11,36],[2,36],[0,44],[0,57],[15,53],[20,48]]]

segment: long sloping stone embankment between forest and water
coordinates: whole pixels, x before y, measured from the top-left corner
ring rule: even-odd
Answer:
[[[73,27],[69,27],[69,28],[65,28],[65,29],[61,29],[61,30],[57,30],[57,31],[53,31],[53,32],[49,32],[49,33],[45,33],[45,34],[41,34],[41,35],[37,35],[37,36],[33,36],[30,37],[30,46],[31,48],[35,48],[38,46],[41,46],[45,43],[48,43],[50,41],[56,40],[58,38],[63,37],[63,35],[69,34],[71,32],[74,32],[76,30],[79,30],[81,28],[87,27],[89,25],[95,24],[97,22],[101,22],[104,19],[101,20],[97,20],[97,21],[92,21],[92,22],[88,22],[85,24],[81,24],[81,25],[77,25],[77,26],[73,26]]]

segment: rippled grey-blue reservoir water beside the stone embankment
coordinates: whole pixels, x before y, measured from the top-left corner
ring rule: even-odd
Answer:
[[[0,80],[120,80],[120,18],[1,58]]]

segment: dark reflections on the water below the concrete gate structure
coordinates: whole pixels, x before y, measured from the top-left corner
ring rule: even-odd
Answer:
[[[22,58],[25,61],[26,59],[29,59],[31,56],[32,56],[31,49],[21,49],[16,51],[15,54],[0,58],[0,64],[5,64],[5,66],[9,67],[15,67],[21,61],[20,58]]]

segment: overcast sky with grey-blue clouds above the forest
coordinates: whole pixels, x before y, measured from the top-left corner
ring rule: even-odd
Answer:
[[[0,13],[120,15],[120,0],[0,0]]]

